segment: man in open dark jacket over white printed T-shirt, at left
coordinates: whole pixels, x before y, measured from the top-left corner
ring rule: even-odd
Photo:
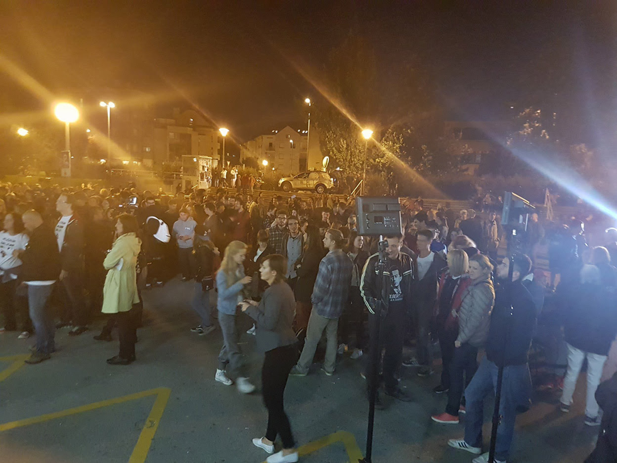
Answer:
[[[60,290],[64,296],[64,313],[58,328],[72,325],[68,334],[77,336],[88,330],[88,312],[83,298],[83,223],[73,213],[75,197],[62,193],[56,211],[62,217],[56,224],[56,240],[60,252]]]

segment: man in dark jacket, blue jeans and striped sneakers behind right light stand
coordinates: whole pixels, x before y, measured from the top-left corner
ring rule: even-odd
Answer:
[[[536,306],[531,294],[523,286],[522,278],[531,270],[531,260],[524,254],[513,258],[512,280],[508,281],[510,259],[497,266],[499,285],[495,288],[495,306],[491,313],[486,357],[465,390],[465,438],[450,439],[451,447],[474,454],[482,453],[482,424],[484,398],[497,386],[497,371],[503,366],[502,395],[497,429],[495,463],[507,461],[514,435],[516,413],[529,408],[531,377],[529,375],[529,347],[536,326]],[[488,454],[474,463],[486,463]]]

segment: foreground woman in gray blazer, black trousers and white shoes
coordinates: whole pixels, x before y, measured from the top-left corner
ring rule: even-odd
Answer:
[[[289,419],[284,411],[283,396],[291,367],[298,359],[296,335],[291,328],[296,315],[294,292],[284,281],[285,259],[280,254],[266,257],[259,269],[262,280],[270,285],[262,300],[244,301],[243,312],[255,320],[257,347],[265,352],[262,367],[263,402],[268,409],[268,429],[253,444],[267,453],[274,452],[274,441],[281,436],[283,449],[266,460],[268,463],[294,463],[298,453]]]

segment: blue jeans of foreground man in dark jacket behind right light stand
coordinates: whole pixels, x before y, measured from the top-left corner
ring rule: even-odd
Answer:
[[[473,447],[482,447],[482,422],[484,421],[484,398],[495,392],[497,365],[486,357],[469,386],[465,390],[465,442]],[[502,395],[499,413],[502,420],[497,429],[495,459],[507,460],[514,435],[516,409],[529,401],[531,377],[529,365],[511,365],[503,369]]]

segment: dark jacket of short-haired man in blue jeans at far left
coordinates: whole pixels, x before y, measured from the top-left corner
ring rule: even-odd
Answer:
[[[39,225],[32,233],[22,259],[21,278],[24,282],[57,280],[60,276],[58,241],[51,228]]]

